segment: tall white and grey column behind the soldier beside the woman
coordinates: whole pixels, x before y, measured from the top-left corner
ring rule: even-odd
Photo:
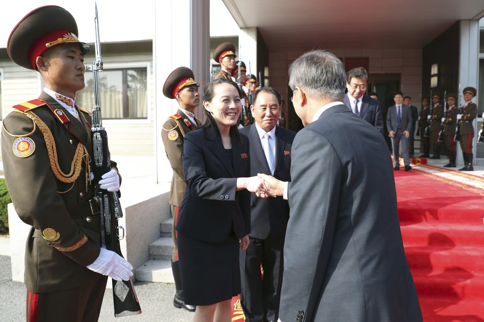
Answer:
[[[164,0],[155,2],[153,64],[155,84],[155,155],[157,182],[170,182],[172,169],[166,158],[161,128],[175,114],[178,103],[163,95],[163,84],[170,73],[186,66],[200,83],[200,94],[208,81],[210,52],[210,1]],[[201,100],[200,100],[201,103]],[[202,118],[201,105],[196,111]]]

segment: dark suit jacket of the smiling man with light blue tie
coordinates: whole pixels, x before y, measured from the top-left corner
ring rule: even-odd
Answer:
[[[247,135],[250,143],[250,175],[257,173],[271,174],[269,165],[260,143],[255,123],[241,128],[241,133]],[[282,181],[290,181],[290,151],[295,132],[276,126],[276,169],[274,177]],[[286,233],[289,219],[289,204],[282,197],[262,199],[254,194],[251,208],[250,236],[266,239],[269,234],[276,239]]]

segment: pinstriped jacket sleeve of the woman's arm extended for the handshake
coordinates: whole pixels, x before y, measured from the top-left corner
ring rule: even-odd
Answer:
[[[185,136],[183,167],[190,195],[194,198],[235,201],[237,178],[213,179],[207,175],[205,161],[214,160],[216,157],[209,153],[202,135],[202,131],[195,131]],[[221,196],[229,198],[222,199]]]

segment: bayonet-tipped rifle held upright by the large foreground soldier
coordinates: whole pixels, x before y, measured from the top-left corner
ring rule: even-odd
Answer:
[[[107,144],[106,130],[102,127],[101,107],[99,97],[98,72],[102,71],[101,42],[99,38],[99,22],[97,18],[97,3],[95,2],[96,17],[96,60],[92,66],[86,66],[86,70],[93,72],[94,80],[94,109],[93,125],[91,126],[91,138],[94,150],[94,180],[99,182],[101,175],[111,170],[111,158]],[[99,203],[101,221],[101,246],[116,252],[123,257],[119,241],[124,238],[124,228],[118,225],[118,218],[123,217],[121,204],[116,192],[100,189],[96,183],[94,199]],[[119,230],[122,230],[122,236]],[[124,317],[141,314],[141,307],[136,296],[135,287],[131,278],[129,281],[113,282],[114,316]]]

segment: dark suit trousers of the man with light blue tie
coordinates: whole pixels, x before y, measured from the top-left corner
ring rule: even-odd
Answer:
[[[249,236],[249,247],[241,251],[241,304],[248,322],[279,319],[284,238],[284,235],[277,239]]]

